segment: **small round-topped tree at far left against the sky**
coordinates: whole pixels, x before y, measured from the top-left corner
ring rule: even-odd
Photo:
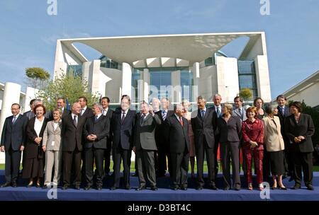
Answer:
[[[50,79],[50,74],[40,67],[26,68],[27,84],[42,90]]]

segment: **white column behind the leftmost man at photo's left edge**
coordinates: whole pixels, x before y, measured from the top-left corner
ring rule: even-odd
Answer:
[[[20,102],[21,85],[18,83],[6,82],[4,85],[4,98],[2,100],[1,117],[0,117],[0,132],[4,127],[6,117],[11,116],[11,105]],[[4,153],[0,153],[0,163],[4,163]]]

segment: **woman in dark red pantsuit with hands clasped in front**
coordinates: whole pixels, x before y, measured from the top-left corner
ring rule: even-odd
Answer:
[[[242,122],[243,151],[247,161],[248,189],[252,190],[252,158],[254,158],[254,171],[257,173],[259,190],[262,185],[262,158],[264,157],[264,123],[257,118],[257,108],[246,110],[247,120]]]

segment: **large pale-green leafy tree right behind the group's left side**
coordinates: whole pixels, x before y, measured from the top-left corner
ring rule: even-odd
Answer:
[[[47,86],[38,92],[38,98],[43,100],[43,103],[47,110],[53,110],[56,106],[56,100],[59,97],[68,100],[71,105],[77,102],[80,96],[87,98],[87,105],[91,106],[93,103],[98,101],[96,95],[92,95],[87,91],[88,84],[86,81],[82,81],[79,76],[62,75],[57,77],[54,81],[49,81]]]

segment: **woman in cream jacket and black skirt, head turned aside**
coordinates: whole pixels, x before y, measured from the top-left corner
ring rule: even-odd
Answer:
[[[272,179],[274,180],[273,189],[277,188],[276,177],[278,177],[279,188],[286,190],[286,187],[282,184],[282,175],[285,172],[284,169],[284,139],[281,136],[281,126],[279,117],[277,114],[277,108],[274,105],[268,105],[265,108],[267,117],[264,117],[264,145],[269,152],[270,168],[272,172]]]

